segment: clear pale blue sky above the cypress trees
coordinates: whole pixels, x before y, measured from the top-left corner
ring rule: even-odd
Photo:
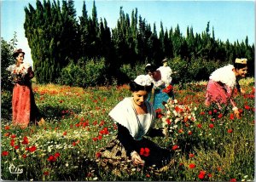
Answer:
[[[43,0],[41,0],[43,2]],[[61,0],[60,0],[61,2]],[[74,0],[77,18],[82,14],[83,0]],[[125,14],[137,8],[137,14],[150,24],[155,23],[160,31],[160,21],[168,31],[180,28],[186,36],[187,27],[193,27],[194,34],[201,33],[210,22],[210,33],[214,28],[214,36],[230,43],[244,41],[248,37],[249,44],[255,44],[255,3],[253,0],[243,1],[173,1],[173,0],[96,0],[97,18],[106,19],[110,28],[116,27],[119,9],[123,7]],[[17,48],[26,52],[25,61],[32,63],[31,49],[28,46],[25,31],[24,8],[31,3],[36,8],[36,0],[0,0],[1,3],[1,37],[9,42],[17,33]],[[85,0],[88,15],[91,16],[93,0]],[[152,30],[153,31],[153,30]]]

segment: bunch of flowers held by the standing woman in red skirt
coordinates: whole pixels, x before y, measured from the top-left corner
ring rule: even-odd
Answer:
[[[10,78],[13,83],[22,83],[25,82],[25,76],[29,67],[31,67],[31,65],[27,63],[22,63],[20,66],[14,64],[9,65],[6,70],[10,72]]]

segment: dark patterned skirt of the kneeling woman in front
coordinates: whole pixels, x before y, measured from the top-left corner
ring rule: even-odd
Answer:
[[[153,141],[146,138],[138,140],[137,142],[137,149],[146,147],[149,149],[148,155],[145,156],[143,156],[140,150],[136,150],[145,161],[145,167],[154,168],[155,171],[161,171],[173,165],[172,151],[161,148],[159,145],[156,145]],[[137,168],[132,164],[130,154],[126,153],[124,146],[117,137],[111,140],[106,147],[103,147],[97,153],[99,156],[96,161],[100,166],[108,170],[121,173],[123,169],[127,172],[129,170],[131,171],[132,168]]]

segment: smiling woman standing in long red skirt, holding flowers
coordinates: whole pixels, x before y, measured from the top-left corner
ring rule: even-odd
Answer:
[[[23,62],[24,55],[21,48],[17,49],[13,54],[16,63],[7,68],[15,84],[12,97],[13,124],[20,128],[26,128],[30,121],[36,122],[36,117],[41,118],[32,93],[31,79],[34,72],[31,65]],[[43,120],[44,118],[41,118],[40,123],[44,122]]]

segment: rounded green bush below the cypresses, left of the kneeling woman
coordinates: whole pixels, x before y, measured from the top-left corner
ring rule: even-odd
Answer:
[[[61,77],[58,82],[60,84],[89,87],[102,85],[106,82],[105,60],[79,60],[78,65],[73,61],[61,71]]]

